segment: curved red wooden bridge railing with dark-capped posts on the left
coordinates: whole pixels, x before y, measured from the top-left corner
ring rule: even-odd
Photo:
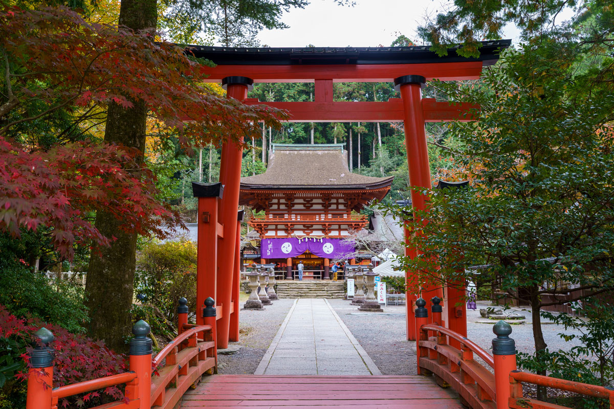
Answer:
[[[187,323],[187,300],[179,300],[179,326],[174,340],[152,359],[150,327],[138,321],[132,328],[130,371],[53,388],[53,334],[41,328],[41,346],[31,352],[26,409],[57,409],[58,400],[97,389],[125,384],[125,400],[93,409],[173,409],[204,373],[217,372],[216,308],[209,297],[203,308],[204,325]],[[153,373],[153,375],[152,375]]]

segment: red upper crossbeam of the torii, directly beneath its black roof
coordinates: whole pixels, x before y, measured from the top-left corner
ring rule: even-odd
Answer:
[[[224,77],[239,75],[254,82],[392,82],[394,78],[411,73],[422,75],[427,80],[439,78],[442,81],[476,80],[482,72],[481,61],[464,63],[429,64],[361,64],[361,65],[291,65],[291,66],[203,66],[201,71],[208,75],[199,78],[203,82],[220,82]]]

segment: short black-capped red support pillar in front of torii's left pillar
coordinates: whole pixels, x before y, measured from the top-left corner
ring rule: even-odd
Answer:
[[[208,297],[217,300],[217,249],[222,235],[219,204],[223,196],[222,183],[192,182],[194,197],[198,197],[198,233],[196,239],[196,324],[204,325],[201,308]]]

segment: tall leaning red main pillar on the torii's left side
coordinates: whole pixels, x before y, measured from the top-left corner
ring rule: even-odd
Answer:
[[[222,88],[226,89],[229,98],[243,101],[247,98],[247,88],[254,80],[247,77],[226,77],[222,80]],[[217,348],[228,348],[230,331],[230,310],[232,301],[233,271],[235,264],[237,209],[239,207],[239,183],[241,180],[241,160],[243,159],[243,136],[239,142],[230,139],[222,144],[222,161],[220,163],[220,182],[224,186],[224,194],[220,206],[220,221],[223,224],[223,239],[217,262],[217,304],[221,305],[222,317],[217,320]],[[235,308],[238,308],[237,305]]]

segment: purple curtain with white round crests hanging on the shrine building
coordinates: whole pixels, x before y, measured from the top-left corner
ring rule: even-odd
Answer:
[[[356,247],[341,239],[262,239],[260,254],[262,258],[296,257],[309,250],[318,257],[335,259],[354,253]],[[349,258],[354,258],[350,256]]]

